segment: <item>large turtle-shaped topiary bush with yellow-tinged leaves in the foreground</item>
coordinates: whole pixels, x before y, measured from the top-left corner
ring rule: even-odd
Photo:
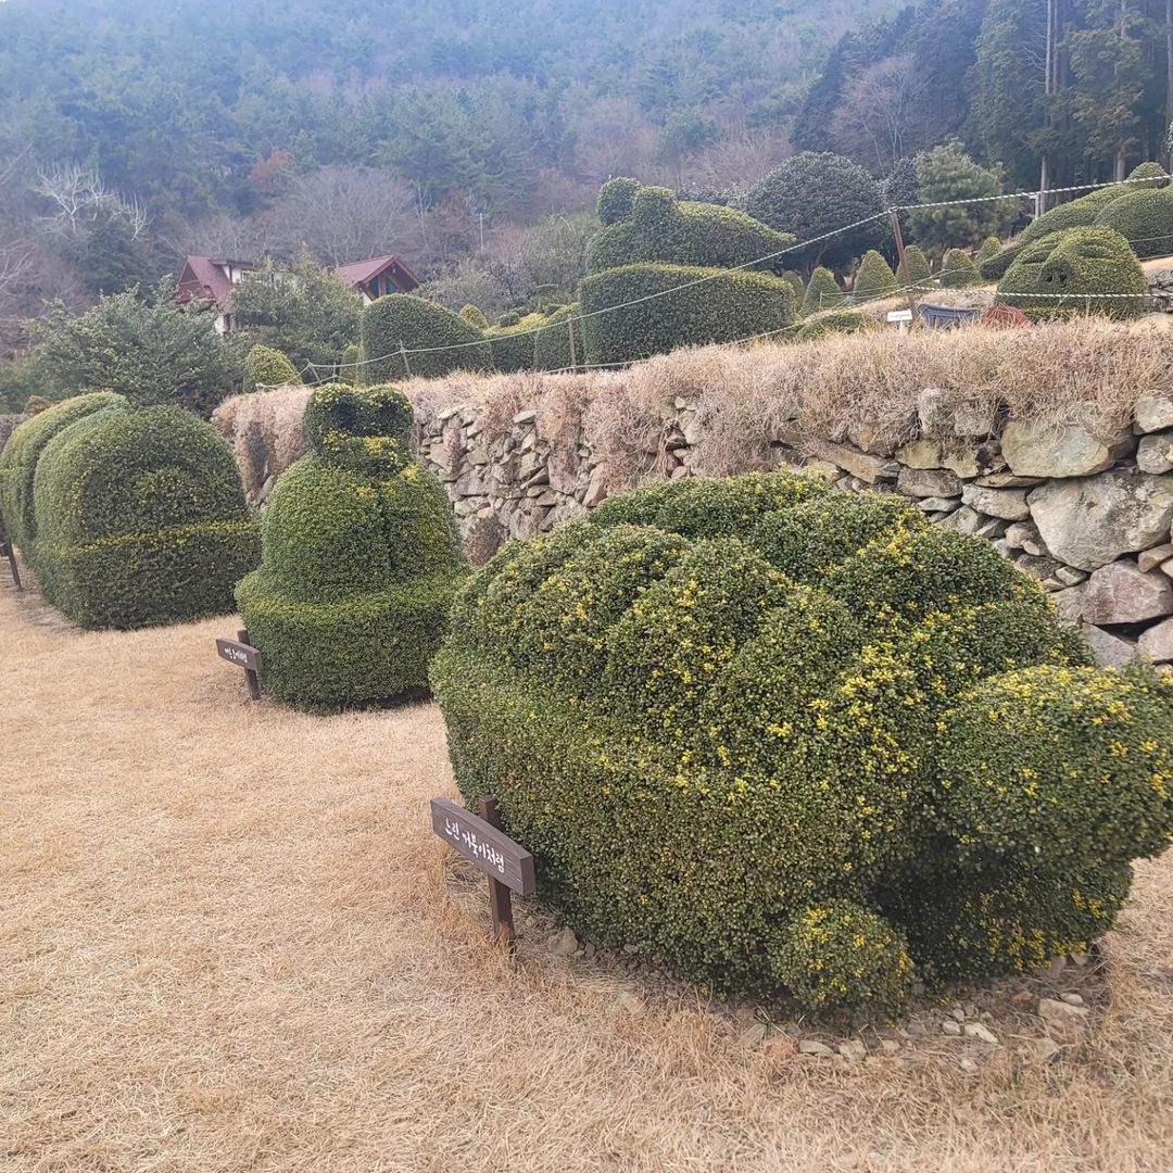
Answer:
[[[889,1011],[1045,964],[1173,835],[1173,677],[907,502],[678,481],[511,544],[432,667],[457,782],[577,929],[726,991]]]

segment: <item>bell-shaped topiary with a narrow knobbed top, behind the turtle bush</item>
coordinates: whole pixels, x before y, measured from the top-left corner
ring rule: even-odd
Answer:
[[[467,571],[440,482],[412,459],[412,407],[394,387],[323,387],[310,453],[278,480],[264,561],[237,588],[262,687],[310,710],[418,696]]]

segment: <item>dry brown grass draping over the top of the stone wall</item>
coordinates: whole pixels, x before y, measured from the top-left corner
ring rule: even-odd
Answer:
[[[804,345],[706,346],[623,371],[456,373],[414,380],[406,389],[423,430],[446,408],[479,407],[486,442],[508,433],[517,412],[536,411],[538,434],[556,459],[574,467],[578,446],[589,446],[613,490],[657,476],[657,454],[680,416],[677,400],[697,409],[698,463],[714,476],[767,467],[771,441],[788,421],[812,438],[841,440],[850,425],[867,423],[882,439],[909,439],[925,387],[1022,418],[1112,426],[1141,395],[1173,387],[1173,333],[1158,328],[1164,324],[1079,320],[1032,330],[974,326],[833,335]],[[266,468],[278,473],[300,454],[307,394],[287,388],[237,396],[217,411],[250,493]]]

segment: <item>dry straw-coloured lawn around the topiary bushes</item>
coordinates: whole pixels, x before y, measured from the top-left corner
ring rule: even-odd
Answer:
[[[81,633],[0,588],[5,1173],[1173,1167],[1173,857],[1100,971],[985,1002],[997,1046],[927,1002],[800,1056],[809,1025],[552,956],[535,906],[511,971],[429,829],[439,712],[249,706],[232,626]],[[1064,990],[1093,1028],[1044,1062]]]

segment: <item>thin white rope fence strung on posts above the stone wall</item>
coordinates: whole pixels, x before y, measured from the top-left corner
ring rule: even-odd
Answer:
[[[972,197],[963,198],[963,199],[944,199],[944,201],[934,201],[934,202],[920,203],[920,204],[899,204],[899,205],[895,205],[895,206],[891,206],[891,208],[887,208],[883,211],[875,212],[872,216],[866,216],[863,219],[855,221],[855,222],[853,222],[850,224],[843,224],[842,226],[832,229],[828,232],[822,232],[822,233],[820,233],[818,236],[809,237],[806,240],[795,242],[794,244],[789,244],[789,245],[787,245],[784,249],[778,249],[774,252],[766,253],[764,257],[758,257],[754,260],[747,260],[747,262],[744,262],[744,263],[741,263],[739,265],[731,265],[727,269],[721,269],[719,272],[706,273],[705,276],[694,278],[693,280],[682,282],[679,285],[673,285],[673,286],[671,286],[670,289],[666,289],[666,290],[657,290],[655,293],[646,293],[643,297],[632,298],[629,301],[621,301],[621,303],[618,303],[616,305],[604,306],[604,307],[602,307],[599,310],[591,310],[588,313],[576,313],[576,314],[572,316],[572,318],[567,318],[567,319],[564,319],[562,321],[545,323],[545,324],[543,324],[541,326],[531,326],[531,327],[529,327],[527,330],[511,331],[508,337],[510,337],[510,338],[524,338],[527,335],[541,334],[541,333],[543,333],[543,332],[545,332],[548,330],[563,330],[563,328],[570,328],[570,330],[572,330],[574,327],[570,325],[571,321],[574,321],[574,323],[586,321],[586,320],[589,320],[591,318],[601,317],[602,314],[617,313],[621,310],[629,310],[629,308],[631,308],[633,306],[643,305],[643,304],[645,304],[647,301],[655,301],[655,300],[657,300],[659,298],[671,297],[671,296],[673,296],[676,293],[682,292],[683,290],[694,289],[694,287],[697,287],[699,285],[705,285],[705,284],[707,284],[710,282],[719,280],[726,273],[738,272],[738,271],[747,270],[747,269],[748,270],[759,269],[762,265],[768,264],[769,262],[780,259],[781,257],[786,257],[786,256],[793,255],[795,252],[802,252],[802,251],[805,251],[807,249],[811,249],[812,246],[814,246],[816,244],[822,244],[823,242],[832,240],[835,237],[845,236],[845,235],[847,235],[849,232],[855,232],[855,231],[857,231],[861,228],[866,228],[867,225],[873,224],[873,223],[875,223],[877,221],[881,221],[881,219],[891,218],[894,215],[897,215],[897,213],[901,213],[901,212],[910,212],[910,211],[918,211],[918,210],[931,210],[931,209],[936,209],[936,208],[968,206],[968,205],[972,205],[972,204],[992,203],[992,202],[996,202],[996,201],[1004,201],[1004,199],[1018,199],[1018,201],[1023,201],[1023,199],[1036,198],[1038,196],[1065,195],[1065,194],[1070,194],[1070,192],[1073,192],[1073,191],[1087,191],[1087,192],[1091,192],[1091,191],[1097,191],[1097,190],[1100,190],[1100,189],[1104,189],[1104,188],[1114,188],[1114,187],[1120,187],[1120,185],[1130,184],[1130,183],[1132,183],[1132,184],[1152,185],[1153,183],[1160,182],[1162,179],[1164,181],[1168,181],[1168,179],[1171,179],[1171,176],[1167,175],[1167,174],[1165,174],[1165,172],[1161,172],[1160,176],[1147,176],[1145,178],[1138,178],[1138,179],[1118,179],[1118,181],[1112,181],[1112,182],[1108,182],[1108,183],[1076,184],[1076,185],[1066,187],[1066,188],[1050,188],[1050,189],[1046,189],[1046,190],[1038,189],[1038,190],[1035,190],[1035,191],[1008,191],[1008,192],[1003,192],[1002,195],[998,195],[998,196],[972,196]],[[1173,238],[1173,233],[1166,233],[1166,235],[1158,236],[1158,237],[1146,237],[1146,238],[1138,239],[1138,240],[1132,242],[1132,243],[1134,243],[1134,244],[1152,243],[1152,242],[1155,242],[1155,240],[1159,240],[1159,239],[1171,239],[1171,238]],[[913,286],[913,289],[915,289],[915,286]],[[909,287],[906,286],[906,289],[903,291],[897,290],[896,293],[897,294],[900,292],[906,292],[907,293],[908,291],[909,291]],[[845,298],[847,296],[848,294],[846,294],[846,293],[843,294]],[[896,294],[884,294],[884,297],[891,297],[891,296],[896,296]],[[1026,294],[1016,294],[1016,296],[1026,296]],[[1031,297],[1063,297],[1064,294],[1030,294],[1030,296]],[[1135,293],[1099,294],[1099,297],[1107,297],[1107,296],[1131,297],[1131,298],[1148,297],[1148,294],[1135,294]],[[854,303],[854,304],[862,304],[862,303]],[[791,328],[791,327],[781,327],[781,330],[779,330],[779,331],[772,331],[771,333],[782,333],[782,332],[785,332],[788,328]],[[299,373],[299,375],[304,377],[304,375],[306,375],[306,374],[308,374],[308,373],[312,372],[312,374],[314,377],[316,384],[320,384],[320,382],[324,381],[324,379],[320,377],[319,372],[324,372],[324,371],[328,372],[328,378],[335,378],[338,375],[338,373],[341,372],[341,371],[357,369],[357,368],[361,368],[361,367],[366,367],[366,366],[372,366],[372,365],[378,364],[378,362],[387,362],[387,361],[389,361],[392,359],[395,359],[395,358],[407,358],[407,359],[409,359],[412,355],[416,355],[416,354],[439,354],[439,353],[452,352],[452,351],[469,350],[472,347],[486,346],[490,341],[491,341],[490,339],[482,338],[482,339],[476,339],[476,340],[470,341],[470,343],[453,343],[453,344],[449,344],[449,345],[446,345],[446,346],[420,346],[420,347],[412,347],[412,348],[408,348],[408,347],[404,346],[402,344],[400,344],[400,346],[398,348],[395,348],[393,351],[389,351],[386,354],[377,355],[375,358],[359,359],[359,360],[357,360],[354,362],[337,362],[337,364],[307,362],[301,368],[301,371],[298,372],[298,373]],[[730,344],[730,345],[735,345],[735,344]],[[579,366],[578,368],[582,369],[582,366]]]

